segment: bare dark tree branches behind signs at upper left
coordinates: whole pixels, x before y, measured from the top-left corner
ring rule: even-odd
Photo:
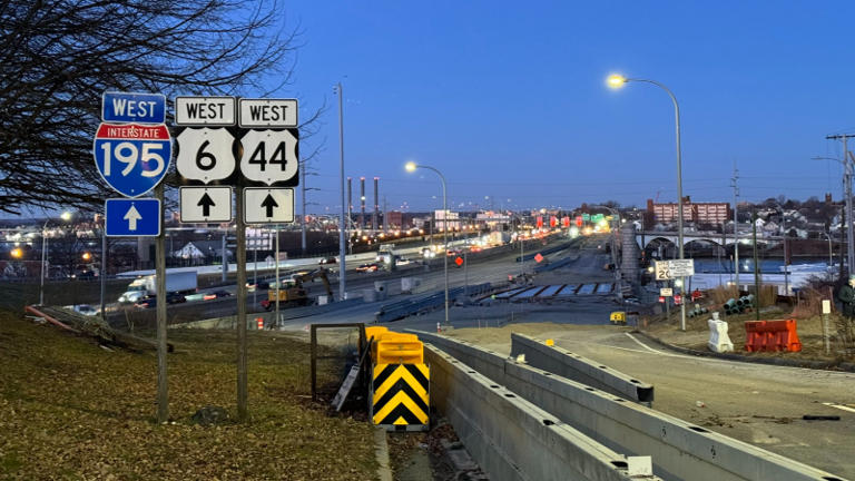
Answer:
[[[279,7],[0,0],[0,212],[102,202],[107,187],[91,150],[106,90],[171,98],[268,94],[288,84],[296,33],[285,32]]]

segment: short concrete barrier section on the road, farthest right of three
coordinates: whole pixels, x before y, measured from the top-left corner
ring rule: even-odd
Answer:
[[[617,394],[650,408],[653,386],[609,366],[523,334],[511,334],[511,357],[525,354],[525,362],[543,371]]]

